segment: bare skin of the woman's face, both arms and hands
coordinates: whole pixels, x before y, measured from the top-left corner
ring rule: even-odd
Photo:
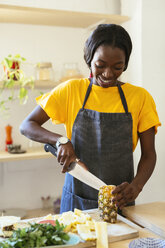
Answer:
[[[118,81],[118,78],[124,71],[124,68],[125,53],[123,50],[109,45],[98,47],[91,61],[91,72],[94,84],[103,88],[114,87],[117,83],[122,85],[123,83]],[[23,121],[20,131],[29,139],[54,145],[61,135],[42,127],[48,120],[49,116],[40,106],[37,106]],[[135,178],[131,183],[123,182],[116,186],[113,191],[114,194],[117,194],[114,197],[114,201],[120,209],[137,198],[155,167],[156,152],[154,145],[154,127],[139,133],[139,139],[141,145],[141,158]],[[68,170],[69,165],[74,162],[75,159],[76,154],[71,142],[59,147],[57,160],[60,164],[63,164],[63,173]],[[82,162],[80,162],[80,164],[87,169]]]

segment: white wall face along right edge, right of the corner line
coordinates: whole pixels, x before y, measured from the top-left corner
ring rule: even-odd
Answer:
[[[142,1],[142,75],[143,86],[149,90],[157,105],[162,126],[156,135],[157,165],[153,177],[145,187],[145,201],[165,200],[165,1]]]

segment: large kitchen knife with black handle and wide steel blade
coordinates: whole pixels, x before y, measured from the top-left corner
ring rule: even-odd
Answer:
[[[46,152],[51,152],[54,156],[57,157],[57,148],[51,144],[45,144],[44,149]],[[72,162],[67,171],[70,175],[77,178],[81,182],[89,185],[90,187],[99,190],[100,187],[105,186],[106,184],[100,180],[98,177],[93,175],[91,172],[85,170],[77,162]]]

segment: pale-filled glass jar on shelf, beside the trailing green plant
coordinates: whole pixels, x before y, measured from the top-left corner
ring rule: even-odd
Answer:
[[[49,62],[38,63],[36,67],[36,79],[40,81],[52,81],[53,80],[52,63]]]

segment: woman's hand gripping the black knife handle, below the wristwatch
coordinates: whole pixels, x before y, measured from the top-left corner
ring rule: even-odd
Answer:
[[[76,162],[77,156],[73,149],[73,145],[71,142],[67,144],[60,145],[57,150],[57,161],[60,163],[62,167],[62,173],[68,171],[68,168],[72,162]],[[78,162],[84,169],[88,170],[86,165],[81,161]]]

